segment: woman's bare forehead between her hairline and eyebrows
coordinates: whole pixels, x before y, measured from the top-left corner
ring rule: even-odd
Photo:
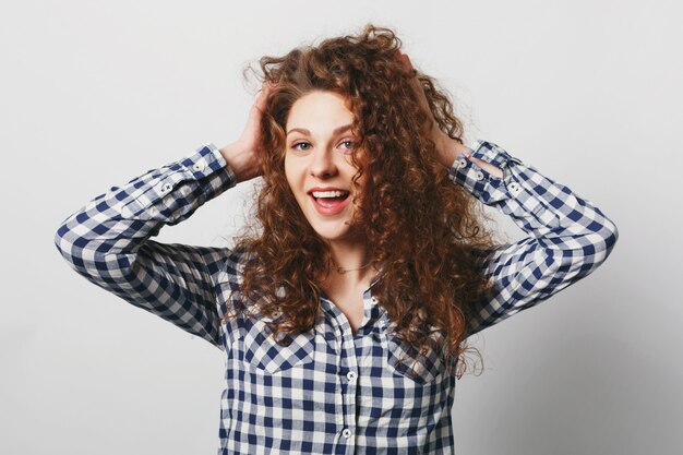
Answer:
[[[334,92],[311,92],[291,106],[287,117],[287,131],[305,128],[312,133],[326,133],[335,127],[354,122],[348,100]]]

